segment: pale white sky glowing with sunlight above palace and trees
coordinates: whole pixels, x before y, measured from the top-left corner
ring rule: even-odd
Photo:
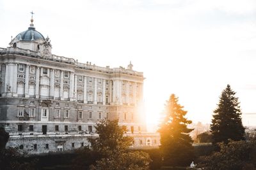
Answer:
[[[256,1],[0,0],[1,48],[28,29],[32,10],[52,53],[142,71],[148,123],[171,94],[190,120],[211,123],[230,84],[243,124],[256,125]]]

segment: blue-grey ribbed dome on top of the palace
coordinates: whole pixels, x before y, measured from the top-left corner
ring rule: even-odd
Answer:
[[[21,41],[35,41],[36,39],[44,39],[44,36],[36,31],[35,27],[31,26],[27,31],[20,32],[17,36],[17,39]]]

